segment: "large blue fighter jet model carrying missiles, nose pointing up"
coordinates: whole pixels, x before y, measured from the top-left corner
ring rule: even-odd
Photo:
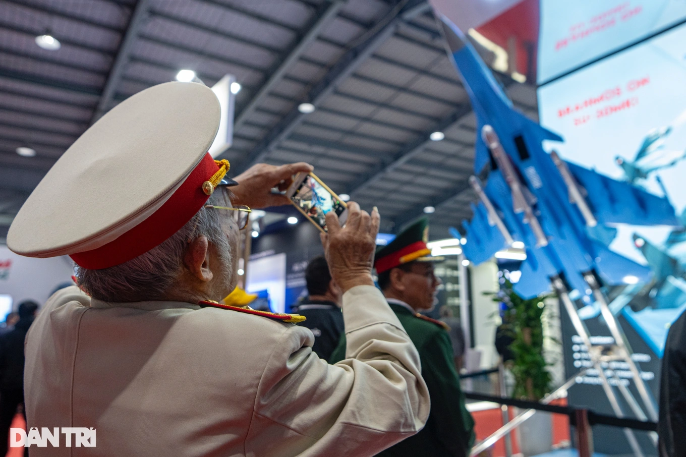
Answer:
[[[582,296],[600,285],[647,282],[650,268],[608,249],[612,224],[677,225],[667,198],[547,154],[543,140],[563,139],[515,110],[458,27],[445,17],[438,23],[477,117],[475,174],[490,164],[486,185],[470,179],[480,203],[462,222],[466,258],[482,263],[523,242],[527,258],[514,290],[524,298],[549,291],[555,278]]]

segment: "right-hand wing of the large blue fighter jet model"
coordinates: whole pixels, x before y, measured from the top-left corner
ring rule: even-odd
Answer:
[[[587,193],[600,224],[679,225],[674,207],[665,197],[567,162],[569,171]]]

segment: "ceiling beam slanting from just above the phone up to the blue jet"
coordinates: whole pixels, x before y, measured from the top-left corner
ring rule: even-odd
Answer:
[[[354,194],[357,194],[359,191],[362,191],[368,185],[372,185],[376,183],[378,180],[382,179],[384,176],[388,176],[388,174],[392,173],[395,169],[413,159],[420,152],[422,152],[427,145],[432,143],[431,139],[429,138],[432,132],[436,132],[436,130],[445,130],[455,124],[459,124],[460,121],[464,119],[464,117],[469,115],[469,113],[471,113],[471,105],[464,104],[462,106],[458,106],[458,108],[454,110],[453,113],[451,113],[448,117],[440,121],[438,125],[432,127],[426,132],[423,132],[418,137],[418,139],[406,145],[396,154],[393,154],[392,159],[390,161],[382,162],[379,165],[377,165],[377,167],[372,169],[372,172],[370,172],[369,174],[360,176],[357,180],[355,180],[348,186],[345,193],[354,196]]]

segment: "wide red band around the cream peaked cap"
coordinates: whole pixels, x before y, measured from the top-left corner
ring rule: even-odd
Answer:
[[[149,218],[104,246],[71,254],[69,257],[78,266],[100,270],[147,253],[174,235],[200,211],[209,198],[202,191],[202,183],[209,180],[218,170],[219,167],[212,156],[209,153],[205,154],[183,184]]]

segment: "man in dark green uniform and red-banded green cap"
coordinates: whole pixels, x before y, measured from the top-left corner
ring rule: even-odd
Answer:
[[[447,325],[419,314],[434,307],[440,284],[431,257],[425,257],[431,253],[427,233],[427,220],[419,220],[379,249],[374,262],[379,287],[419,352],[422,377],[431,397],[424,429],[378,454],[383,457],[466,457],[474,443],[474,421],[464,407]],[[342,336],[330,362],[343,360],[345,349]]]

